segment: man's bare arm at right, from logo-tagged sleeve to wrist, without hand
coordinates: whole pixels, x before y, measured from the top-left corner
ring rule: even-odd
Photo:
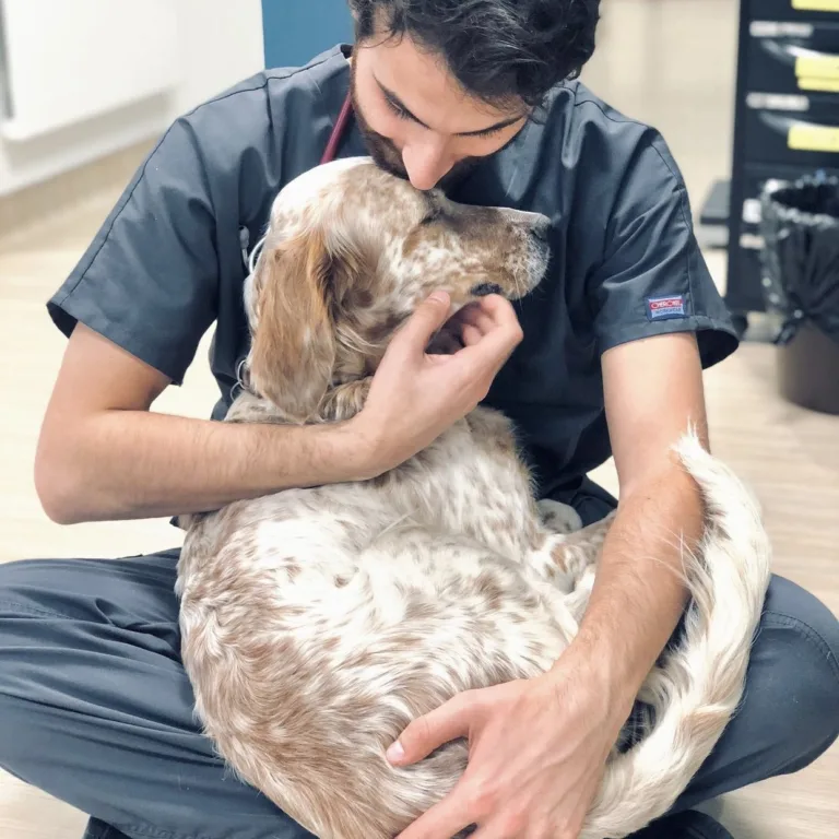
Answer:
[[[689,425],[708,445],[696,338],[616,346],[603,356],[603,377],[621,500],[575,648],[630,707],[678,623],[683,551],[701,531],[699,489],[672,451]]]

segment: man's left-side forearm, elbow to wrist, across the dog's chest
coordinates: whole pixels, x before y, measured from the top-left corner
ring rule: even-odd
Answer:
[[[52,439],[57,439],[52,435]],[[39,452],[36,483],[61,523],[218,509],[297,486],[365,476],[347,424],[218,423],[144,411],[103,411]]]

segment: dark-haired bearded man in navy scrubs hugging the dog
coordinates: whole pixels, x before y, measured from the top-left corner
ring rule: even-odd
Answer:
[[[178,120],[50,300],[70,340],[38,491],[71,523],[366,478],[487,397],[518,424],[541,494],[593,521],[615,501],[586,474],[614,452],[618,515],[577,641],[545,678],[458,697],[390,753],[405,764],[454,736],[472,742],[463,783],[407,839],[468,824],[485,839],[567,839],[676,630],[673,534],[695,542],[701,512],[669,449],[688,422],[704,432],[702,366],[736,338],[662,139],[567,81],[592,52],[595,0],[350,1],[355,48],[262,73]],[[418,189],[545,213],[548,277],[517,309],[487,304],[471,324],[482,353],[447,365],[445,379],[424,348],[448,307],[423,304],[347,424],[151,413],[215,322],[213,416],[224,415],[247,352],[243,246],[276,191],[317,165],[348,91],[355,118],[340,156],[371,153]],[[90,839],[296,839],[300,828],[225,772],[198,731],[176,560],[168,551],[0,568],[0,765],[92,814]],[[830,612],[773,579],[741,712],[677,812],[645,835],[723,836],[690,808],[816,759],[839,730],[837,654]]]

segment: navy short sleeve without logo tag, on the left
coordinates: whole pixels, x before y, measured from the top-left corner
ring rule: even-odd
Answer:
[[[206,166],[176,121],[48,302],[56,326],[95,330],[180,385],[217,307]]]

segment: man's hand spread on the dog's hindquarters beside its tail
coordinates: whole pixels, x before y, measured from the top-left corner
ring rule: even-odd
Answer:
[[[400,839],[576,839],[629,708],[569,649],[548,674],[461,694],[403,732],[388,753],[413,764],[468,737],[469,767]]]

